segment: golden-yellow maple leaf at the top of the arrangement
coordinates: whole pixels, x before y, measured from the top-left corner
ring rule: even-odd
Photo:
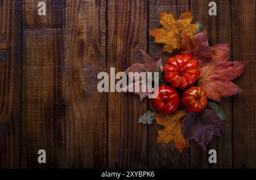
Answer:
[[[193,36],[196,34],[198,24],[191,24],[193,16],[188,10],[179,16],[178,20],[174,19],[172,14],[164,12],[159,13],[160,24],[163,28],[156,28],[150,32],[155,37],[155,43],[163,43],[163,52],[172,52],[179,49],[181,35],[187,34]]]

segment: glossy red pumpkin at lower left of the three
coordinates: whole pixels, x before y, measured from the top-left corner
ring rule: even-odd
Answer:
[[[158,94],[157,94],[158,92]],[[177,110],[180,104],[180,97],[177,91],[168,85],[158,86],[154,91],[151,102],[160,113],[172,113]]]

